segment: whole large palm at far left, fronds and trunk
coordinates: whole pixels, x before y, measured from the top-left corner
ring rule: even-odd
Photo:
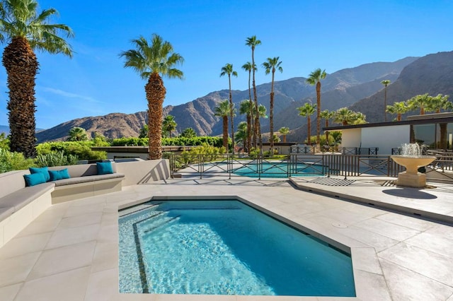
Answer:
[[[55,8],[38,14],[35,0],[4,0],[0,3],[0,41],[7,42],[2,63],[7,73],[7,109],[11,151],[34,157],[35,151],[35,78],[39,70],[35,49],[72,57],[72,49],[59,34],[72,37],[71,28],[51,24]]]

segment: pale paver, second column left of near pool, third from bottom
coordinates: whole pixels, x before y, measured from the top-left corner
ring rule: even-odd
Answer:
[[[86,225],[82,227],[63,228],[56,230],[45,249],[55,249],[57,247],[67,246],[69,244],[78,244],[79,242],[88,242],[96,240],[101,226],[99,224]]]

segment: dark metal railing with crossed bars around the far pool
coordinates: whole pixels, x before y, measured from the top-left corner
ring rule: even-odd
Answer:
[[[453,153],[436,155],[426,168],[427,178],[453,180]],[[341,155],[338,153],[262,155],[248,157],[222,155],[171,155],[171,177],[397,177],[404,167],[391,160],[391,155]],[[438,175],[442,174],[442,175]]]

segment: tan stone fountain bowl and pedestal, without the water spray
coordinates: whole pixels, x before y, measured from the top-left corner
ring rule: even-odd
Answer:
[[[430,155],[392,155],[391,159],[406,167],[405,172],[398,173],[397,186],[423,188],[426,186],[426,175],[418,172],[418,167],[426,166],[435,160]]]

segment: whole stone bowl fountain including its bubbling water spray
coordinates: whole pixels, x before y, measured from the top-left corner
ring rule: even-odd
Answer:
[[[405,172],[398,173],[396,185],[403,187],[423,188],[426,186],[426,175],[418,172],[418,167],[432,163],[435,156],[422,155],[418,143],[405,143],[401,146],[402,155],[392,155],[391,159],[406,167]]]

